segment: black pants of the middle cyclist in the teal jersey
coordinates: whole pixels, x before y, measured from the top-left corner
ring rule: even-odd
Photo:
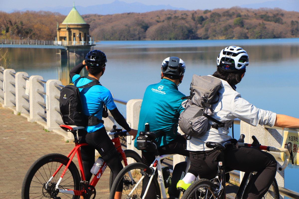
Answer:
[[[165,154],[179,154],[179,155],[184,155],[189,157],[189,151],[186,150],[186,138],[181,135],[177,135],[176,139],[171,141],[169,144],[165,146],[161,146],[159,149],[159,155],[165,155]],[[142,155],[142,162],[146,164],[147,166],[151,165],[151,163],[155,160],[155,155],[152,152],[141,152]],[[162,160],[161,160],[162,162]],[[195,170],[190,170],[190,173],[197,175]],[[143,187],[142,190],[144,191],[147,186],[149,178],[145,177],[143,181]],[[164,187],[162,188],[164,189]],[[154,187],[152,184],[149,186],[149,190],[147,191],[147,196],[146,198],[155,198],[155,192],[154,192]]]

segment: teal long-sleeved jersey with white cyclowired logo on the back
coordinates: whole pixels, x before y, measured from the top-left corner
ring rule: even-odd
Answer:
[[[138,135],[140,131],[144,131],[144,124],[149,123],[150,131],[163,130],[165,133],[156,139],[158,146],[164,146],[174,140],[178,133],[176,124],[179,122],[180,113],[184,110],[181,106],[183,101],[181,97],[184,96],[178,91],[177,85],[168,79],[149,85],[141,104]],[[134,146],[138,148],[136,139]]]

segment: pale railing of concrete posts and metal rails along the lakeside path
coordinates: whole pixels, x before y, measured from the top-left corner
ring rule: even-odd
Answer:
[[[27,117],[28,121],[37,122],[49,131],[57,132],[60,129],[59,125],[63,124],[59,108],[60,90],[63,87],[64,85],[59,80],[44,81],[43,77],[39,75],[29,77],[26,72],[15,72],[13,69],[4,70],[3,67],[0,67],[0,104],[2,107],[12,109],[14,114],[21,114]],[[131,128],[138,129],[142,100],[134,99],[126,102],[114,99],[114,101],[126,105],[126,120]],[[106,129],[111,129],[114,119],[111,116],[103,119]],[[234,124],[240,124],[240,121],[234,120]],[[299,129],[289,130],[299,131]],[[65,139],[73,139],[71,134],[64,136]],[[127,148],[135,149],[133,145],[131,139],[128,138]],[[173,164],[175,165],[177,162],[180,161],[174,157]],[[239,174],[236,176],[238,177]],[[299,196],[299,193],[283,187],[280,187],[280,194],[294,199],[298,199]]]

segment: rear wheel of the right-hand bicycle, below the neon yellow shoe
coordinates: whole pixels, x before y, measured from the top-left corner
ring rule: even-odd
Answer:
[[[192,183],[181,199],[215,199],[216,186],[207,179],[199,179]]]

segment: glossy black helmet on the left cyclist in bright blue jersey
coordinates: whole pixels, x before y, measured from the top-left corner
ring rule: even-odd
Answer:
[[[103,69],[106,66],[107,58],[100,50],[92,50],[85,57],[85,65],[89,68]]]

